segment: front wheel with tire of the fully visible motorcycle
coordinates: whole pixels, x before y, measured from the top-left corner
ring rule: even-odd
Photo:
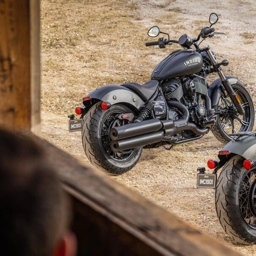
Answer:
[[[219,114],[212,132],[223,143],[232,139],[229,134],[252,131],[254,125],[254,107],[251,96],[242,84],[232,84],[232,88],[240,98],[245,112],[242,115],[239,114],[229,97],[224,94],[220,96],[218,105],[215,107]]]

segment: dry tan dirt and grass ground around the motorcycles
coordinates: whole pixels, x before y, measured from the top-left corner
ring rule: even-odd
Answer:
[[[145,47],[153,41],[147,36],[151,26],[158,25],[173,39],[184,33],[193,37],[208,25],[212,11],[220,16],[216,31],[226,35],[204,45],[211,46],[218,60],[229,60],[224,73],[237,76],[255,100],[255,0],[42,0],[42,136],[88,163],[81,133],[68,133],[67,115],[101,85],[150,79],[155,65],[178,48]],[[244,255],[256,255],[255,245],[235,244],[223,231],[214,191],[196,189],[197,167],[216,158],[221,147],[209,133],[170,151],[144,150],[134,169],[113,179]]]

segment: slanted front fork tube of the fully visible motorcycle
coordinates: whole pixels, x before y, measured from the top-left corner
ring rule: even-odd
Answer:
[[[207,54],[210,57],[212,64],[213,64],[213,68],[215,68],[215,70],[218,72],[218,75],[220,76],[221,79],[221,83],[223,84],[223,87],[226,89],[229,97],[231,98],[231,101],[234,103],[234,106],[236,107],[237,111],[239,114],[243,114],[245,112],[245,110],[243,109],[242,105],[241,105],[241,100],[238,97],[238,95],[235,94],[233,88],[231,87],[231,84],[229,83],[229,80],[226,79],[226,77],[224,76],[220,64],[217,63],[215,57],[212,54],[212,51],[210,49],[207,50]]]

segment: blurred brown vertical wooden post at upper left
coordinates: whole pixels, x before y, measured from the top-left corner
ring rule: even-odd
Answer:
[[[40,132],[39,0],[0,0],[0,126]]]

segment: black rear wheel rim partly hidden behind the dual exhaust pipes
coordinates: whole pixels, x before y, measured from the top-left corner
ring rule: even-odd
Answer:
[[[130,123],[128,120],[119,120],[115,116],[118,114],[124,114],[122,111],[112,111],[109,112],[106,117],[104,118],[102,125],[101,125],[101,143],[103,149],[105,150],[106,154],[112,158],[114,161],[127,161],[129,158],[133,157],[136,153],[135,149],[131,150],[124,150],[121,152],[113,152],[110,148],[111,139],[109,137],[109,130],[113,127],[126,125]]]

